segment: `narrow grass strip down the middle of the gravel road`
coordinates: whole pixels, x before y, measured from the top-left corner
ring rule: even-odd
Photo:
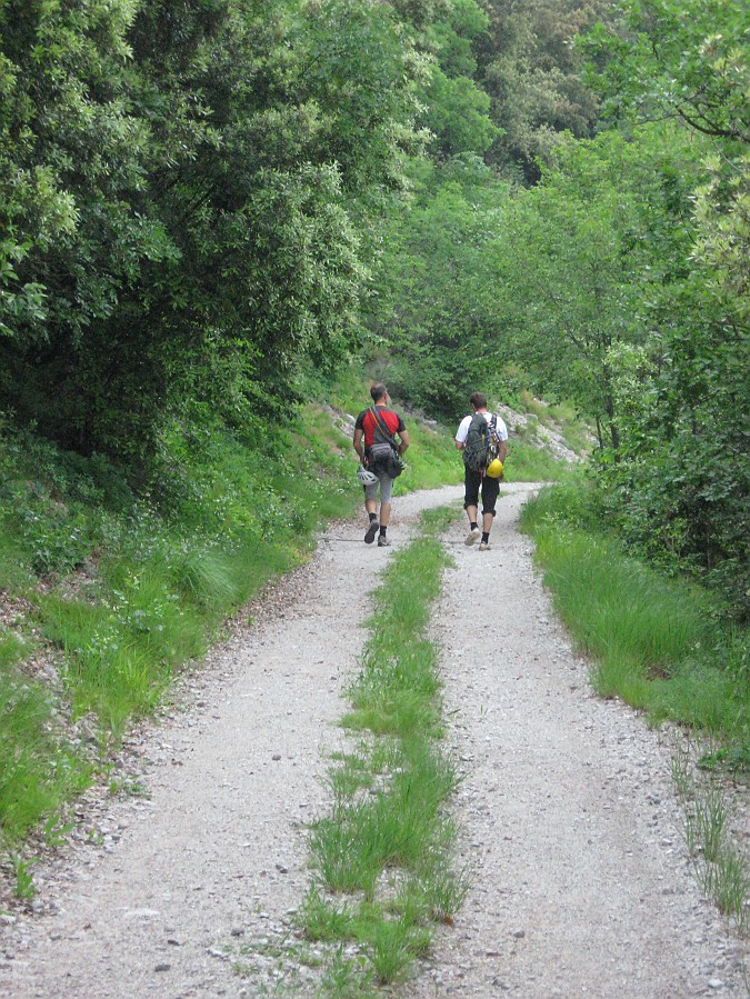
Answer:
[[[432,511],[392,556],[374,592],[362,670],[343,725],[356,749],[331,769],[333,808],[316,822],[306,936],[331,946],[323,995],[374,995],[403,979],[466,893],[452,869],[456,829],[446,802],[453,762],[440,746],[438,650],[427,636],[449,557],[434,537],[453,511]],[[356,956],[346,957],[344,946]]]

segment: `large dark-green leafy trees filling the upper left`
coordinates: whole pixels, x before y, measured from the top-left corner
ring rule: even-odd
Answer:
[[[416,141],[407,29],[346,0],[3,0],[0,406],[132,461],[186,393],[239,421],[340,357],[344,196]]]

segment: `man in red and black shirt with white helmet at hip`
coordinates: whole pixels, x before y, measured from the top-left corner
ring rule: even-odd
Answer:
[[[373,472],[378,479],[377,482],[364,487],[364,509],[370,518],[364,543],[372,545],[380,528],[378,548],[386,548],[390,545],[387,531],[393,490],[391,452],[396,449],[399,456],[403,454],[409,447],[409,434],[401,417],[388,407],[386,386],[380,382],[373,384],[370,394],[373,406],[363,409],[357,417],[352,443],[364,468]],[[377,515],[378,489],[380,489],[380,521]]]

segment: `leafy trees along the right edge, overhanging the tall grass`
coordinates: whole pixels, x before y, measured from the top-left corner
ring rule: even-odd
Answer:
[[[683,148],[699,149],[703,162],[692,189],[660,213],[668,220],[681,203],[688,238],[662,239],[654,257],[662,279],[642,306],[652,349],[639,361],[649,420],[626,428],[629,460],[604,481],[631,538],[700,572],[742,617],[750,606],[747,16],[726,0],[627,0],[619,10],[619,22],[586,42],[603,112],[620,122],[676,122]],[[629,393],[626,378],[620,394]]]

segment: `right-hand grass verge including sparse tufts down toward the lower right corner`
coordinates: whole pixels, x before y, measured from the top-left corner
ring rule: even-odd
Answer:
[[[710,745],[691,773],[676,755],[676,786],[686,805],[686,841],[704,892],[748,930],[750,866],[728,835],[728,778],[750,777],[750,642],[704,591],[664,578],[628,557],[598,529],[577,490],[544,490],[526,505],[521,527],[533,535],[556,609],[592,659],[601,697],[619,697],[653,725],[671,720]]]

